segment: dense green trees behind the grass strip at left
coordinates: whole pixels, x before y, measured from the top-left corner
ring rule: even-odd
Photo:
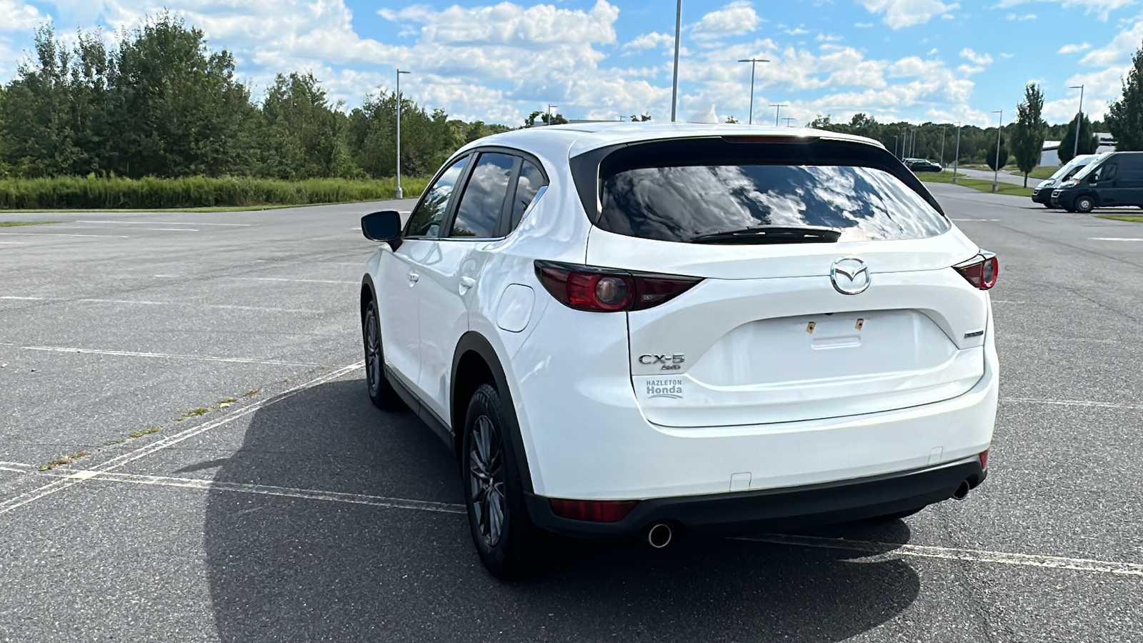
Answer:
[[[32,61],[0,87],[0,177],[395,174],[397,96],[331,101],[311,73],[278,74],[262,96],[234,56],[161,14],[107,47],[98,31],[67,46],[50,25]],[[401,170],[434,172],[458,146],[506,126],[449,119],[402,96]]]

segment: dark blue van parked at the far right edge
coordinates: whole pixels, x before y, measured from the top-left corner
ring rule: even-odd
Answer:
[[[1143,152],[1108,152],[1052,191],[1053,205],[1068,212],[1143,206]]]

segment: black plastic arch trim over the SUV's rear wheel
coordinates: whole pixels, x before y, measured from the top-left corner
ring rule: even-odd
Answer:
[[[453,354],[453,372],[449,380],[449,422],[453,426],[453,451],[457,466],[463,461],[464,416],[469,411],[472,394],[483,383],[491,383],[504,403],[504,419],[507,422],[507,439],[515,461],[520,467],[520,478],[525,491],[533,492],[531,470],[528,468],[528,457],[523,448],[520,422],[515,416],[515,405],[512,402],[512,390],[507,376],[501,365],[499,356],[487,338],[474,331],[461,336]]]

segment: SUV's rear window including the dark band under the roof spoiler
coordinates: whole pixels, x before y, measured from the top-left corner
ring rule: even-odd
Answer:
[[[872,145],[840,153],[822,143],[652,146],[600,164],[600,228],[688,243],[761,225],[830,228],[840,241],[919,239],[952,227],[927,192],[904,182],[914,178],[896,174],[909,170]]]

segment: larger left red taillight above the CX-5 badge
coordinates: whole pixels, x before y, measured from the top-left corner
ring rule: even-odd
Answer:
[[[630,272],[554,261],[537,261],[536,277],[565,305],[596,312],[652,308],[702,281],[700,277]]]

